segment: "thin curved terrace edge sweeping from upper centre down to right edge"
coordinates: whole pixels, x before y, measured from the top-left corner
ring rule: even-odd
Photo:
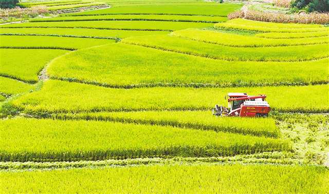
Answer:
[[[168,51],[168,52],[175,52],[175,53],[181,53],[181,54],[187,54],[187,55],[192,55],[192,56],[199,56],[199,57],[204,57],[207,59],[215,59],[215,60],[223,60],[223,61],[242,61],[242,62],[303,62],[303,61],[316,61],[320,59],[325,59],[329,57],[329,54],[326,56],[321,56],[321,57],[314,57],[313,59],[309,60],[241,60],[241,59],[225,59],[223,57],[216,57],[216,56],[211,56],[209,54],[198,54],[193,51],[179,51],[175,49],[169,49],[161,46],[153,46],[153,45],[147,45],[147,44],[139,44],[139,43],[127,43],[127,42],[121,42],[122,44],[127,44],[127,45],[136,45],[136,46],[142,46],[142,47],[147,47],[147,48],[152,48],[156,50],[163,50],[163,51]]]

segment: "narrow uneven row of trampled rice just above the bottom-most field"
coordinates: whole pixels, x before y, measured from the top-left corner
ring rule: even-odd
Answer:
[[[136,165],[154,164],[300,164],[298,159],[291,156],[291,152],[262,152],[255,154],[237,155],[233,157],[211,158],[136,158],[136,159],[109,159],[102,161],[76,161],[76,162],[0,162],[1,170],[31,170],[31,169],[63,169],[63,168],[95,168],[95,167],[129,167]],[[119,158],[119,157],[118,157]]]

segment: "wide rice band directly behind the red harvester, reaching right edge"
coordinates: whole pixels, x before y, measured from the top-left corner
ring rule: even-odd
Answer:
[[[247,92],[249,95],[266,94],[271,107],[278,111],[320,113],[329,112],[329,105],[326,103],[329,98],[328,91],[329,85],[113,89],[49,80],[44,83],[41,90],[21,96],[20,99],[13,101],[13,104],[32,113],[210,110],[215,104],[226,105],[224,96],[228,92]]]

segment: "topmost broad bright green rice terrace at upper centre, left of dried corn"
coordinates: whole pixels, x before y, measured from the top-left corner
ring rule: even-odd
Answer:
[[[165,4],[114,7],[66,15],[107,15],[107,14],[174,14],[174,15],[212,15],[227,16],[228,13],[241,8],[241,4]]]

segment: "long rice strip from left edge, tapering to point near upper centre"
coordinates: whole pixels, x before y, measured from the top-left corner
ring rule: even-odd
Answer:
[[[93,38],[125,38],[131,36],[167,34],[169,31],[142,31],[142,30],[100,30],[83,28],[1,28],[2,35],[6,34],[42,34],[54,36],[81,36]]]

